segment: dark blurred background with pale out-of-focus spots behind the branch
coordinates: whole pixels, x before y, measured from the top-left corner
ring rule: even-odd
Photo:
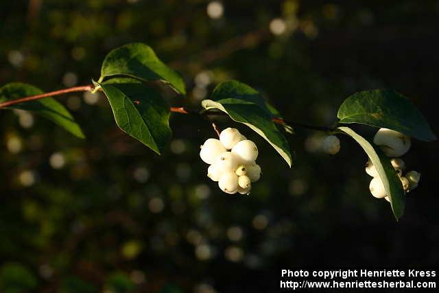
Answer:
[[[237,79],[288,120],[330,125],[348,95],[392,88],[439,133],[437,0],[16,0],[1,1],[0,19],[0,84],[88,84],[110,49],[143,42],[187,82],[174,106],[197,108]],[[396,222],[348,137],[328,156],[324,134],[296,129],[289,169],[218,120],[257,142],[263,169],[251,196],[228,196],[198,156],[209,121],[173,114],[157,156],[115,126],[104,97],[59,100],[86,140],[0,111],[1,292],[273,292],[280,268],[438,266],[437,142],[404,156],[422,178]]]

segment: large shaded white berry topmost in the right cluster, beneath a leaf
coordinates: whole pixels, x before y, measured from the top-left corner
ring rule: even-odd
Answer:
[[[412,146],[410,137],[388,128],[379,128],[373,142],[379,145],[386,156],[402,156]]]

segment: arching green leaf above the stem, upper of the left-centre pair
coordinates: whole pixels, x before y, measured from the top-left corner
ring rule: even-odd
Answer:
[[[170,84],[178,93],[186,94],[185,82],[180,74],[165,65],[151,47],[143,43],[123,45],[108,53],[102,63],[99,82],[117,76],[144,81],[161,80]]]

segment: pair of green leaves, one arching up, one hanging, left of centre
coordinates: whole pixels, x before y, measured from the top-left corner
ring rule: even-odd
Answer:
[[[161,94],[144,82],[160,80],[184,95],[181,76],[142,43],[124,45],[104,59],[95,85],[110,102],[117,126],[134,139],[161,154],[171,139],[169,105]]]

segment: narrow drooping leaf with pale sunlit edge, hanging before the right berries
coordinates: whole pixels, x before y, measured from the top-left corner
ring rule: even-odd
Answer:
[[[399,220],[404,213],[405,194],[401,180],[392,167],[390,159],[385,156],[379,148],[374,148],[369,141],[361,137],[361,135],[357,134],[357,132],[351,128],[342,126],[337,129],[355,139],[369,156],[370,161],[372,161],[372,164],[377,169],[379,178],[383,181],[385,192],[390,198],[393,214],[396,220]]]

